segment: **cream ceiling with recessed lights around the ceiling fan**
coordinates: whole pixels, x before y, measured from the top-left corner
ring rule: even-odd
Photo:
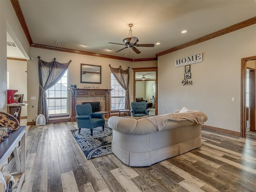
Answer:
[[[32,41],[126,58],[156,54],[256,16],[256,0],[19,0]],[[122,44],[132,23],[136,54]],[[188,32],[182,34],[182,30]],[[64,45],[57,45],[56,41]],[[82,47],[81,44],[88,46]],[[112,51],[107,51],[110,48]]]

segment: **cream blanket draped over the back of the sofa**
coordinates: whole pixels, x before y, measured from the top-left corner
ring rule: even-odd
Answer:
[[[160,131],[162,130],[162,128],[164,128],[168,120],[172,120],[172,121],[189,120],[191,122],[203,125],[204,122],[207,120],[207,116],[201,111],[193,111],[193,112],[187,112],[187,113],[169,113],[166,115],[157,115],[157,116],[148,117],[145,119],[149,120],[157,128],[157,130]]]

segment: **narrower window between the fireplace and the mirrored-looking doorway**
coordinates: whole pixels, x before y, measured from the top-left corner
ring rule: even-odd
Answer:
[[[111,74],[111,110],[125,109],[125,90]]]

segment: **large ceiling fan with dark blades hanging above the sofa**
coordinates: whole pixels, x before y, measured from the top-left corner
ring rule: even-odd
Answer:
[[[126,48],[131,48],[132,50],[134,50],[134,52],[136,52],[136,54],[139,54],[140,51],[136,47],[154,47],[155,46],[154,44],[137,44],[138,41],[139,41],[138,38],[132,36],[132,26],[133,26],[133,24],[130,23],[130,24],[128,24],[128,26],[130,27],[130,30],[129,30],[128,37],[123,40],[124,44],[109,42],[111,44],[118,44],[118,45],[126,46],[125,48],[122,48],[122,49],[116,51],[116,53],[120,52],[120,51],[122,51]],[[130,35],[130,37],[129,37],[129,35]]]

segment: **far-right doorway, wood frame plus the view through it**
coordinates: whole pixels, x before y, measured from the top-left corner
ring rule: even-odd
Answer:
[[[251,61],[254,66],[253,68],[248,67],[249,65],[248,62],[251,62]],[[243,138],[246,138],[247,126],[248,126],[248,130],[255,131],[255,68],[256,68],[256,56],[241,59],[240,136]],[[249,83],[247,83],[247,80]],[[248,84],[248,88],[247,88],[248,91],[246,91],[247,84]],[[246,96],[248,98],[247,105],[246,105]]]

